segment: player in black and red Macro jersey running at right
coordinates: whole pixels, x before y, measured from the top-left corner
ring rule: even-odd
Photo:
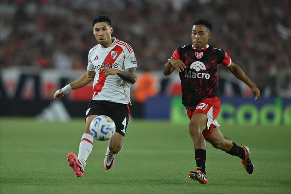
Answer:
[[[211,23],[198,19],[192,26],[192,45],[183,45],[175,50],[164,67],[164,75],[177,70],[181,79],[182,104],[187,109],[190,119],[189,132],[194,142],[197,168],[189,172],[190,179],[207,184],[205,172],[206,143],[221,149],[228,154],[238,156],[249,174],[253,173],[253,163],[249,148],[238,146],[222,135],[216,120],[220,112],[219,91],[217,85],[218,64],[227,67],[238,79],[246,83],[255,95],[260,98],[260,90],[244,74],[242,69],[232,62],[226,51],[208,45],[211,38]]]

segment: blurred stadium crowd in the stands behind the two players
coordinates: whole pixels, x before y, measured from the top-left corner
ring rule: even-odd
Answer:
[[[193,21],[205,18],[213,24],[210,45],[226,50],[265,95],[291,97],[290,2],[1,0],[1,69],[86,70],[97,44],[92,20],[109,15],[138,70],[162,71],[176,48],[191,44]]]

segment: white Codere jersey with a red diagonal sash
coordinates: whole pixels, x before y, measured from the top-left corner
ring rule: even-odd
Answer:
[[[88,71],[95,71],[93,100],[106,100],[121,104],[130,102],[130,83],[124,82],[118,75],[106,76],[101,68],[110,67],[121,71],[137,67],[134,51],[127,43],[113,38],[108,48],[100,44],[90,49],[88,54]]]

